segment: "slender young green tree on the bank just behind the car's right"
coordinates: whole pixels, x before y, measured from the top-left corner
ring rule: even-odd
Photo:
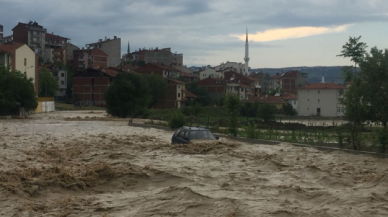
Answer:
[[[241,101],[236,95],[228,95],[225,98],[225,107],[229,113],[229,132],[233,136],[237,136],[238,131],[238,114],[241,107]]]

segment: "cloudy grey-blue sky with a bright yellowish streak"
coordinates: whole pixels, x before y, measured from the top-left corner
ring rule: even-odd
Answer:
[[[349,65],[336,57],[349,36],[388,48],[386,0],[0,0],[5,36],[30,20],[79,47],[171,47],[187,66],[243,62],[246,28],[252,68]]]

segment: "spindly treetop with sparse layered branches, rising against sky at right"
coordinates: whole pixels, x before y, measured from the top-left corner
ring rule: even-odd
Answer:
[[[354,74],[356,75],[357,64],[359,64],[366,54],[366,48],[368,47],[366,43],[359,42],[361,36],[359,37],[349,37],[349,41],[342,46],[341,54],[337,56],[350,57],[351,61],[354,62]]]

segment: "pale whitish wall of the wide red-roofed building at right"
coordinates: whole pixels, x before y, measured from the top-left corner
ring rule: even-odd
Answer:
[[[337,89],[298,90],[298,115],[315,116],[320,108],[320,116],[343,116],[343,112],[337,112],[337,108],[342,107],[338,92]]]

